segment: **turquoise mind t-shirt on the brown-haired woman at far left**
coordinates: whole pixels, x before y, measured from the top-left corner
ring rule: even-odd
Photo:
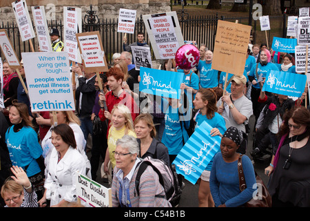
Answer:
[[[14,132],[14,125],[6,131],[6,144],[10,153],[12,165],[21,166],[26,170],[28,177],[41,171],[36,159],[42,155],[42,148],[38,142],[38,135],[34,129],[23,126],[20,131]]]

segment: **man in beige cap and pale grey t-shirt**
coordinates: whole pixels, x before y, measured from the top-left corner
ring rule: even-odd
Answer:
[[[225,118],[226,127],[234,126],[248,133],[246,125],[253,114],[252,102],[244,95],[247,78],[245,75],[234,75],[231,80],[231,94],[228,93],[218,100],[218,113]],[[224,103],[224,105],[222,105]]]

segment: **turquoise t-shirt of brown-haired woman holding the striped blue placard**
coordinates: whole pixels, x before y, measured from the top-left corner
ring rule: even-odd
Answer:
[[[225,131],[227,129],[226,125],[225,125],[224,117],[222,117],[217,112],[214,113],[214,117],[212,117],[211,119],[207,119],[207,115],[202,115],[201,113],[198,113],[197,116],[196,116],[195,121],[197,122],[196,128],[198,128],[198,126],[201,123],[207,122],[207,124],[209,124],[212,128],[218,128],[218,130],[220,131],[220,133],[222,135],[225,133]],[[218,150],[218,152],[220,152],[220,150]],[[213,159],[209,162],[209,164],[207,165],[205,170],[211,171],[212,164],[213,164]]]

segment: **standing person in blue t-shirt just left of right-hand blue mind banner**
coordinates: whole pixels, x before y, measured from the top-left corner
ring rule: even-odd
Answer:
[[[249,81],[251,82],[251,101],[253,104],[253,112],[255,116],[255,124],[262,111],[262,105],[258,103],[258,97],[260,96],[260,90],[262,84],[260,83],[270,72],[270,70],[279,70],[276,64],[271,61],[271,55],[269,50],[263,49],[260,51],[260,61],[255,66],[252,66],[249,73]]]

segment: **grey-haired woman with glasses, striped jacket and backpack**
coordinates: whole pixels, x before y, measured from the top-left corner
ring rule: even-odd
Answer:
[[[116,166],[112,182],[112,206],[171,207],[165,199],[165,190],[158,180],[158,175],[151,166],[147,166],[142,173],[139,194],[136,193],[136,175],[141,162],[137,157],[138,153],[136,137],[124,135],[116,141],[116,148],[113,151]]]

